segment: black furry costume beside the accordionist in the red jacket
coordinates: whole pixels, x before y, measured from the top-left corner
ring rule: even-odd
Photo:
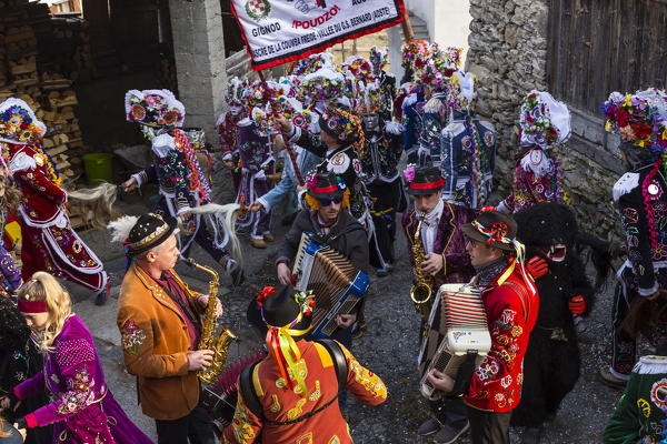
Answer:
[[[537,255],[549,266],[536,280],[539,313],[524,357],[521,402],[511,415],[512,425],[538,427],[556,414],[579,379],[579,347],[569,301],[583,296],[585,316],[593,306],[594,290],[575,251],[577,221],[566,205],[541,202],[514,216],[519,226],[517,238],[526,245],[526,258]],[[566,251],[551,250],[557,244],[565,245]],[[552,258],[564,259],[558,262]]]

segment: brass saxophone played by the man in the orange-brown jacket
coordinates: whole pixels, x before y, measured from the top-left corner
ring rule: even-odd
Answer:
[[[191,259],[183,261],[188,266],[198,269],[210,276],[209,281],[209,302],[206,306],[206,313],[203,315],[203,323],[201,325],[201,339],[199,340],[198,350],[212,350],[213,362],[206,370],[197,372],[197,376],[202,384],[210,384],[213,379],[220,373],[227,361],[227,354],[229,352],[229,345],[237,339],[237,336],[222,326],[222,332],[216,337],[218,331],[218,319],[216,317],[216,303],[218,302],[218,273],[210,266],[198,264]]]

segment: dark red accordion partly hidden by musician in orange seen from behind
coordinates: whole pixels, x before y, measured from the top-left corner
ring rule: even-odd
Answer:
[[[241,356],[237,362],[226,367],[218,379],[201,390],[201,404],[211,420],[219,423],[221,428],[231,424],[238,400],[237,381],[248,365],[255,364],[267,356],[267,352],[259,350],[249,355]]]

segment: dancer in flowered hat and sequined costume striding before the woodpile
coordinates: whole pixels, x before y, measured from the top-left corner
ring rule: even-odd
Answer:
[[[190,246],[197,242],[233,273],[236,263],[225,249],[230,233],[223,219],[219,214],[191,213],[193,208],[211,202],[211,189],[180,129],[186,115],[183,104],[168,90],[130,90],[126,94],[126,112],[127,120],[139,123],[151,141],[153,158],[151,165],[132,176],[138,186],[159,183],[160,199],[153,212],[182,219],[182,229],[177,235],[181,256],[188,258]],[[190,214],[185,218],[183,213]]]

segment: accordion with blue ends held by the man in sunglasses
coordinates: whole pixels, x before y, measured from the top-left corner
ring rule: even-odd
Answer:
[[[315,293],[312,335],[329,337],[338,327],[336,316],[351,313],[366,295],[368,276],[341,253],[312,241],[303,232],[292,270],[295,289]]]

